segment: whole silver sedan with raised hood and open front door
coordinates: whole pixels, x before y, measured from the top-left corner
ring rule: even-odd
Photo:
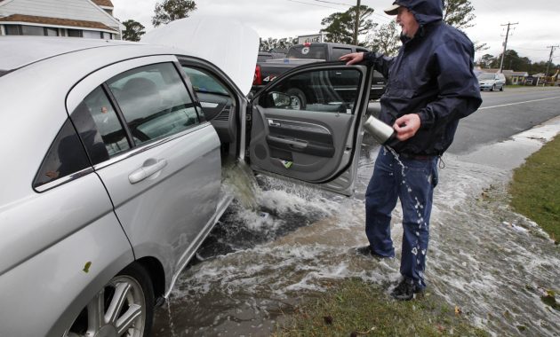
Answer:
[[[143,43],[0,37],[0,336],[148,334],[232,200],[224,161],[353,192],[372,69],[306,65],[250,101],[258,44],[201,16]]]

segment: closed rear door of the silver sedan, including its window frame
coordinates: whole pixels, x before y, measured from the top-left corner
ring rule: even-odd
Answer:
[[[75,124],[92,125],[102,140],[84,145],[100,157],[95,172],[135,257],[156,257],[166,277],[212,228],[220,194],[220,140],[186,81],[176,57],[151,56],[102,68],[68,97],[69,111],[90,116]]]

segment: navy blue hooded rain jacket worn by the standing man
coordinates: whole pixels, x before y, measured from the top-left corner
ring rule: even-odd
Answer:
[[[441,0],[397,0],[420,24],[414,37],[401,36],[396,58],[365,53],[364,60],[388,78],[380,98],[380,120],[393,125],[404,114],[419,114],[420,129],[399,142],[397,153],[441,155],[452,144],[460,118],[482,103],[474,67],[474,46],[467,35],[444,24]]]

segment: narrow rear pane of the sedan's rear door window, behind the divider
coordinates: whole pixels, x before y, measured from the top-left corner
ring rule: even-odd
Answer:
[[[84,98],[71,117],[93,164],[130,149],[124,128],[101,87]]]

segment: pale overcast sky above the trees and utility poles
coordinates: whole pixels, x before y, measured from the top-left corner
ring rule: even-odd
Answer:
[[[153,29],[151,17],[157,2],[163,0],[111,0],[113,14],[121,21],[137,20],[146,31]],[[295,37],[317,34],[321,20],[334,12],[346,12],[355,0],[195,0],[196,12],[241,20],[259,33],[261,38]],[[560,0],[470,0],[475,7],[474,27],[465,29],[475,43],[486,43],[487,50],[477,52],[498,56],[503,51],[508,23],[508,50],[533,62],[548,61],[550,48],[560,45]],[[392,0],[361,0],[374,9],[371,19],[382,25],[395,17],[383,12]],[[560,63],[560,48],[554,52],[553,63]],[[507,65],[504,65],[507,68]],[[515,70],[515,69],[514,69]]]

